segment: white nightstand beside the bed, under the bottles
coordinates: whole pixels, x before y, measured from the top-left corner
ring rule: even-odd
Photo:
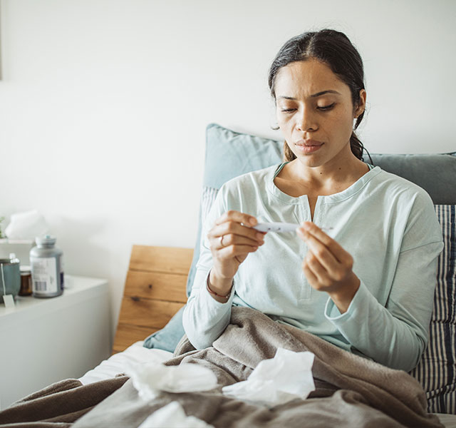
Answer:
[[[110,355],[107,280],[65,276],[63,295],[0,304],[0,409]]]

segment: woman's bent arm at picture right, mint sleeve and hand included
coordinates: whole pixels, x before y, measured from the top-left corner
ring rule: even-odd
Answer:
[[[443,246],[432,203],[424,202],[423,205],[423,199],[418,200],[418,206],[410,213],[395,265],[384,267],[394,269],[393,283],[385,285],[389,287],[385,306],[371,293],[368,283],[356,278],[349,257],[331,243],[331,238],[321,238],[316,244],[321,231],[314,231],[312,238],[300,233],[309,245],[309,253],[313,253],[304,260],[303,270],[313,287],[326,289],[330,295],[326,318],[356,350],[383,365],[406,371],[418,364],[427,344],[437,257]],[[311,225],[311,230],[314,228]],[[322,250],[322,245],[334,260]],[[320,266],[316,266],[313,258],[321,260]]]

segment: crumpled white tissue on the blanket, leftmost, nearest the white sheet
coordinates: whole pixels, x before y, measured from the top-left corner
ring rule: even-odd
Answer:
[[[217,387],[217,376],[211,370],[191,363],[178,366],[166,366],[157,362],[130,365],[125,373],[145,401],[158,397],[162,391],[196,392]]]

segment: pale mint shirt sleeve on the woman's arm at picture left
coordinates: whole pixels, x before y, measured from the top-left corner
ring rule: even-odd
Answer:
[[[226,303],[217,302],[206,288],[207,277],[212,268],[212,253],[209,248],[207,233],[214,225],[215,220],[226,211],[223,190],[222,187],[217,193],[203,225],[195,280],[182,316],[185,334],[197,350],[211,346],[212,342],[222,334],[231,318],[234,284]]]

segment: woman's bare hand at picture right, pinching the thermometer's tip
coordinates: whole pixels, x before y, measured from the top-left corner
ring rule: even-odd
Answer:
[[[302,270],[310,285],[326,291],[339,312],[346,312],[360,285],[353,257],[314,223],[304,222],[296,232],[309,248]]]

